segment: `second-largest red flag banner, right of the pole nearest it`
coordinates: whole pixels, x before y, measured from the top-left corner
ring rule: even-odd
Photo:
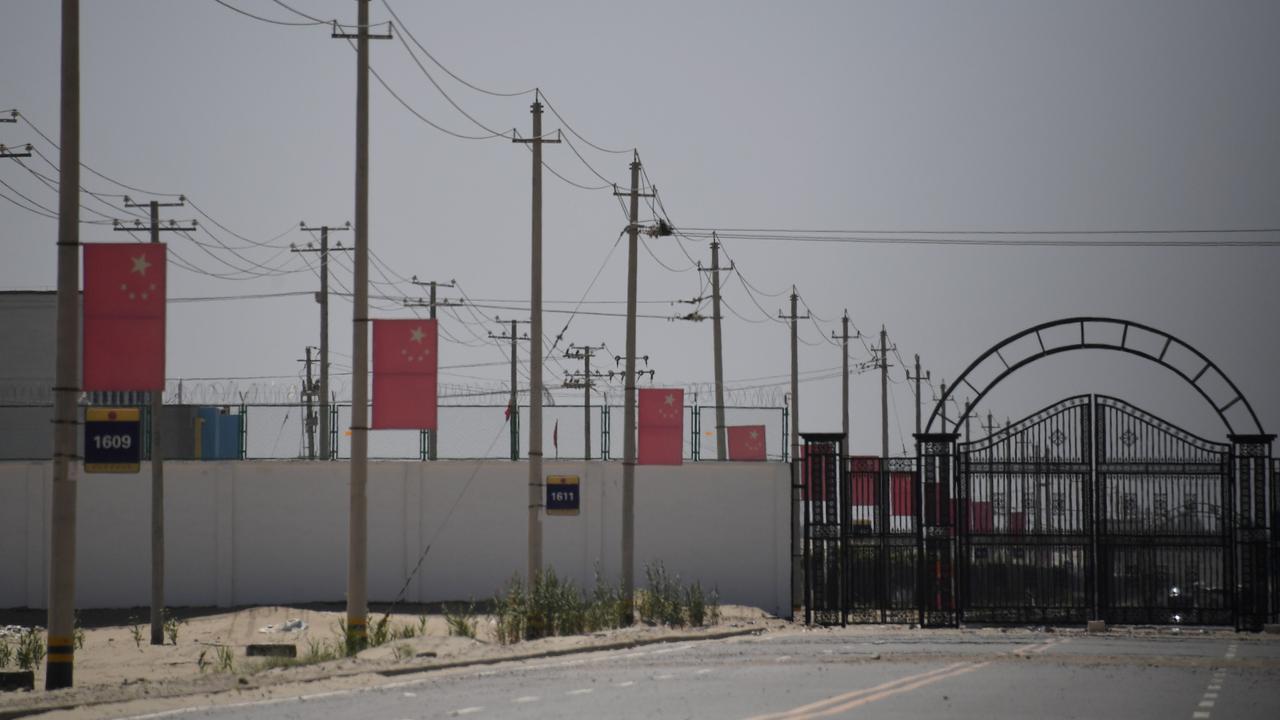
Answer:
[[[435,320],[374,320],[374,429],[435,429]]]

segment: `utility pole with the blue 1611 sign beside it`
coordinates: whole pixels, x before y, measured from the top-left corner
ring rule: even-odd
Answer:
[[[534,136],[512,138],[532,145],[532,263],[530,278],[529,340],[529,559],[526,575],[530,587],[543,571],[543,143],[559,138],[543,137],[543,104],[534,91]]]

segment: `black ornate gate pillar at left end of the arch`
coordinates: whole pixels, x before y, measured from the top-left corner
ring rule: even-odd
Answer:
[[[916,547],[920,626],[946,628],[960,624],[956,603],[959,532],[956,507],[964,507],[959,487],[956,439],[959,433],[915,436],[916,479],[911,492],[916,514]]]

